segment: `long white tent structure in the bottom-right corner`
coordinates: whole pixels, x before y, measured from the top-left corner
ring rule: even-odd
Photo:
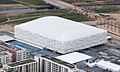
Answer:
[[[108,61],[101,60],[96,65],[102,69],[108,69],[109,71],[112,71],[112,72],[120,72],[119,65],[108,62]]]

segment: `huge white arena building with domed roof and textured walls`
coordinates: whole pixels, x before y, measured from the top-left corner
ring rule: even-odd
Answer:
[[[68,19],[48,16],[16,25],[15,38],[62,54],[107,41],[107,31]]]

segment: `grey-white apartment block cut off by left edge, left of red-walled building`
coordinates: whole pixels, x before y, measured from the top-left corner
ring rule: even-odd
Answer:
[[[0,63],[3,65],[10,62],[12,62],[12,53],[0,48]]]

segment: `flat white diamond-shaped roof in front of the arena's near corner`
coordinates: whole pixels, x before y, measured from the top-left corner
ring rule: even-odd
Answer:
[[[88,56],[88,55],[83,54],[83,53],[73,52],[73,53],[57,56],[56,58],[73,64],[73,63],[77,63],[80,61],[91,59],[93,57]]]

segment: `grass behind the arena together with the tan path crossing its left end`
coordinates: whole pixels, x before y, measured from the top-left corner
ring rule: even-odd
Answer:
[[[60,10],[51,10],[51,11],[43,11],[43,12],[25,13],[17,16],[8,16],[11,20],[16,20],[16,21],[7,22],[5,24],[12,24],[12,25],[21,24],[44,16],[59,16],[78,22],[92,20],[91,18],[88,18],[87,16],[82,14],[68,13]]]

